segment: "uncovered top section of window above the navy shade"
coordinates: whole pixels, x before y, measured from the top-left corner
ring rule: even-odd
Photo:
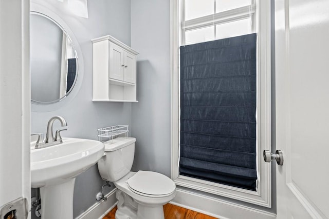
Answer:
[[[255,29],[251,0],[183,0],[181,45],[245,35]]]

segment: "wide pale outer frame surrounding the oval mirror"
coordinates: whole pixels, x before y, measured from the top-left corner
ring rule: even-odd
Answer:
[[[52,7],[51,5],[48,5],[43,1],[41,1],[40,3],[39,2],[40,1],[38,1],[38,0],[32,0],[30,2],[30,13],[37,13],[37,14],[46,16],[46,18],[51,19],[51,21],[56,23],[63,30],[63,32],[65,32],[68,35],[68,37],[71,39],[72,46],[74,46],[74,48],[76,50],[75,51],[76,57],[78,59],[78,61],[77,61],[78,72],[77,72],[77,75],[75,78],[74,86],[72,86],[70,88],[69,92],[64,97],[60,98],[58,101],[47,102],[47,103],[32,101],[32,99],[31,99],[31,111],[50,112],[50,111],[58,110],[59,108],[66,106],[78,94],[78,92],[80,91],[82,82],[83,82],[84,62],[83,62],[82,51],[81,51],[81,48],[79,46],[78,40],[77,40],[74,32],[69,28],[69,26],[60,17],[60,16],[62,16],[65,18],[65,17],[67,17],[67,15],[64,14],[63,11],[59,10],[58,8]]]

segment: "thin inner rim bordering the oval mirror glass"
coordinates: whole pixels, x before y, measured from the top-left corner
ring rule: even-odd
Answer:
[[[77,62],[77,71],[76,71],[76,76],[74,78],[74,82],[72,84],[72,86],[70,87],[69,91],[66,92],[65,95],[63,95],[62,97],[60,97],[59,99],[56,99],[54,101],[49,101],[49,102],[41,102],[41,101],[35,101],[34,99],[31,98],[31,103],[34,103],[34,104],[53,104],[53,103],[56,103],[56,102],[59,102],[59,101],[62,101],[62,99],[66,98],[68,96],[68,94],[70,94],[70,92],[73,90],[74,86],[76,85],[76,82],[77,82],[77,78],[78,78],[78,75],[79,75],[79,59],[78,59],[78,54],[77,54],[77,50],[76,50],[76,46],[75,44],[72,42],[72,39],[71,37],[69,36],[69,34],[64,30],[64,28],[59,24],[57,23],[56,21],[54,21],[54,19],[52,19],[51,17],[43,14],[43,13],[40,13],[40,12],[37,12],[37,11],[30,11],[30,15],[31,14],[35,14],[35,15],[39,15],[39,16],[42,16],[42,17],[45,17],[46,19],[49,19],[51,22],[53,22],[54,24],[56,24],[62,31],[63,33],[66,34],[67,38],[70,40],[71,44],[72,44],[72,48],[74,49],[74,53],[76,55],[76,62]],[[32,72],[30,72],[32,74]],[[32,85],[31,85],[32,86]]]

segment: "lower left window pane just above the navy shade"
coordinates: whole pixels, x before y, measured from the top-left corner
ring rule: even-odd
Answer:
[[[213,41],[215,39],[214,26],[190,30],[185,32],[185,45]]]

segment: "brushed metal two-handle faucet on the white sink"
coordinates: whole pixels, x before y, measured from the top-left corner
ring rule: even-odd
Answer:
[[[67,126],[65,118],[63,118],[62,116],[56,115],[56,116],[51,117],[50,120],[48,121],[48,125],[47,125],[46,140],[43,139],[42,133],[31,134],[31,135],[39,135],[38,141],[36,141],[36,144],[35,144],[35,148],[45,148],[45,147],[49,147],[52,145],[59,145],[59,144],[63,143],[62,137],[61,137],[61,131],[64,131],[67,129],[59,129],[56,131],[55,136],[53,136],[52,125],[53,125],[53,122],[55,122],[56,120],[59,120],[61,122],[62,127]]]

